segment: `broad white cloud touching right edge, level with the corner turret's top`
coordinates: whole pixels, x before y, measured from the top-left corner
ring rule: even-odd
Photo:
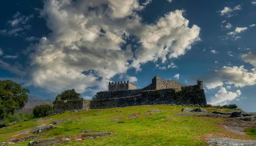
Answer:
[[[214,89],[224,83],[235,87],[252,86],[256,84],[256,72],[248,72],[244,66],[224,66],[215,70],[213,77],[206,77],[204,82],[207,89]]]

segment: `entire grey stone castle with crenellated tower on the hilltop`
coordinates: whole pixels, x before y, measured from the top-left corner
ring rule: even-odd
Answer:
[[[95,96],[96,100],[58,100],[53,113],[157,104],[207,104],[201,79],[197,85],[186,86],[155,76],[152,83],[142,89],[129,81],[109,82],[108,91],[98,92]]]

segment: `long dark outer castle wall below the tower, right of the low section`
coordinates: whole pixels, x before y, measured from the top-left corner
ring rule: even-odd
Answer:
[[[199,104],[204,105],[206,98],[204,89],[198,89],[198,86],[182,87],[177,89],[161,89],[143,91],[140,95],[132,97],[112,98],[103,100],[92,100],[91,109],[106,109],[114,107],[140,106],[140,105],[158,105],[158,104]]]

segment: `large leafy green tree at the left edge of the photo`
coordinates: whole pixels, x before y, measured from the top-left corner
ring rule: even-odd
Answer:
[[[12,80],[0,80],[0,120],[13,115],[15,109],[22,109],[28,101],[29,89],[22,88]]]

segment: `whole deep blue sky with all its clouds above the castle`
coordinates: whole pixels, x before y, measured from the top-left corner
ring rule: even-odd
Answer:
[[[256,112],[256,0],[0,2],[0,80],[54,99],[158,75]]]

